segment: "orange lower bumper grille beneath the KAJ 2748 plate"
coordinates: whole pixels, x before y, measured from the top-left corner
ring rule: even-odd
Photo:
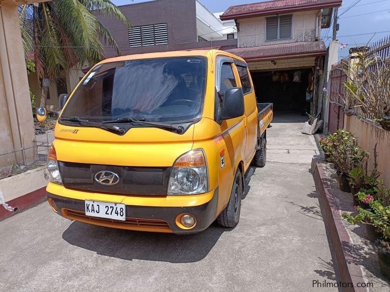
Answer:
[[[112,219],[87,216],[83,211],[75,211],[70,209],[62,209],[62,215],[67,219],[77,220],[81,222],[92,223],[92,224],[97,224],[97,225],[107,226],[107,227],[115,227],[115,228],[138,230],[138,231],[172,232],[168,223],[164,220],[126,218],[126,221],[118,221]]]

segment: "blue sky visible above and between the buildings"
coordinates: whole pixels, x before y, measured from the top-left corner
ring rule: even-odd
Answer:
[[[112,0],[116,5],[145,2],[145,0]],[[231,5],[254,3],[251,0],[200,0],[211,12],[225,11]],[[348,7],[355,5],[346,11]],[[372,13],[375,12],[375,13]],[[364,15],[362,15],[364,14]],[[131,19],[130,19],[131,22]],[[356,45],[372,43],[382,37],[390,36],[390,0],[343,0],[339,8],[340,29],[337,39],[340,43],[348,44],[347,49],[339,50],[339,57],[348,56],[348,48]],[[379,33],[384,32],[385,33]],[[376,34],[374,34],[376,32]],[[364,34],[364,35],[363,35]],[[328,44],[331,40],[332,30],[323,29],[322,38]],[[358,35],[358,36],[351,36]]]

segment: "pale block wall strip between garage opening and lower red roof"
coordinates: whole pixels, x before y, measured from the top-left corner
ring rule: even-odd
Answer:
[[[314,59],[315,57],[275,60],[276,65],[273,65],[271,61],[248,62],[248,68],[251,71],[291,70],[304,67],[311,68],[314,66]]]

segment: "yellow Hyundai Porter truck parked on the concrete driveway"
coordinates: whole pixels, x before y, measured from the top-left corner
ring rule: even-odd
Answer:
[[[176,234],[238,223],[244,174],[264,166],[273,118],[272,104],[256,104],[246,62],[218,50],[103,60],[59,107],[46,188],[53,211]]]

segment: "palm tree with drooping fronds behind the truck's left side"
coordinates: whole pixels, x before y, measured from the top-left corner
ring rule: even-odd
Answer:
[[[20,28],[26,55],[33,54],[42,79],[40,106],[46,106],[50,80],[61,71],[104,58],[105,45],[120,55],[117,42],[97,15],[114,17],[130,28],[126,16],[110,0],[51,0],[19,7]]]

